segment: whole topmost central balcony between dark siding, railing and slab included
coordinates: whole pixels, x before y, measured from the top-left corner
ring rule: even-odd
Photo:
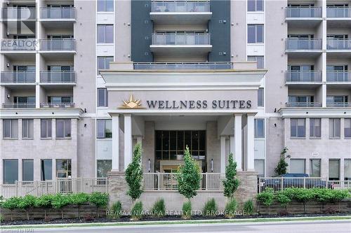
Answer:
[[[211,19],[209,1],[153,1],[150,17],[159,24],[206,24]]]

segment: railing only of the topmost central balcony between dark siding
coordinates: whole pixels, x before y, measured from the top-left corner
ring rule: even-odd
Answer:
[[[153,1],[152,12],[209,12],[209,1]]]

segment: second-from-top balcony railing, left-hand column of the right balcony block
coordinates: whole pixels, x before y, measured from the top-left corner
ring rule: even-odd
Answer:
[[[322,50],[322,39],[287,38],[285,41],[285,50]]]

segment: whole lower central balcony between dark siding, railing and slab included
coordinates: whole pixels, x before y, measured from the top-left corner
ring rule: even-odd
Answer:
[[[211,34],[152,34],[150,49],[156,55],[206,55],[211,52]]]

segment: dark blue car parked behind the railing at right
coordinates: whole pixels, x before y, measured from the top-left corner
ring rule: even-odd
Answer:
[[[261,180],[260,186],[265,188],[273,188],[277,191],[282,188],[330,188],[333,189],[333,185],[326,181],[322,181],[321,178],[310,178],[308,174],[290,173],[277,176],[274,178],[266,178]],[[328,187],[327,187],[328,186]]]

